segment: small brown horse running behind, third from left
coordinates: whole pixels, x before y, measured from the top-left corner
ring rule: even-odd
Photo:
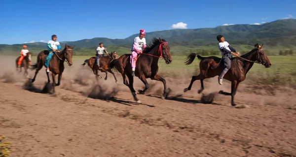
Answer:
[[[105,80],[107,80],[107,78],[108,78],[108,76],[107,76],[108,75],[108,72],[110,72],[114,76],[115,83],[118,83],[115,74],[113,73],[113,71],[111,71],[111,68],[109,66],[110,63],[111,63],[111,61],[116,60],[116,59],[118,59],[118,55],[114,51],[114,52],[111,52],[111,54],[109,54],[108,56],[105,56],[105,57],[101,57],[100,58],[100,67],[101,67],[101,69],[99,69],[99,66],[95,63],[96,57],[91,57],[90,59],[85,60],[84,63],[81,64],[81,65],[84,66],[85,64],[87,64],[93,70],[94,74],[96,75],[96,79],[97,80],[98,80],[98,77],[99,78],[102,78],[98,74],[98,71],[100,70],[101,72],[105,72],[106,73]]]

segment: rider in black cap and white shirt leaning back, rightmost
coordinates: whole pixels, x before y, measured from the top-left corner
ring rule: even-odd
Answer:
[[[219,41],[219,50],[221,51],[222,61],[224,62],[224,69],[218,77],[218,82],[222,85],[223,77],[231,67],[231,55],[238,56],[240,53],[225,41],[222,35],[218,35],[217,40]]]

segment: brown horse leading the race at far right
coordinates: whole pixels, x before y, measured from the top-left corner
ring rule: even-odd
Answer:
[[[192,76],[190,85],[188,88],[184,89],[184,92],[191,90],[191,86],[195,80],[200,80],[201,89],[198,90],[200,94],[204,90],[203,80],[206,78],[215,77],[220,75],[223,70],[223,63],[221,58],[210,56],[210,57],[201,57],[194,53],[188,55],[186,60],[186,65],[191,64],[193,60],[197,57],[201,62],[199,63],[200,74],[197,76]],[[220,91],[220,94],[231,95],[231,105],[235,106],[234,95],[240,82],[246,79],[248,71],[252,68],[254,63],[263,64],[266,68],[271,66],[266,53],[263,50],[263,44],[260,47],[258,43],[255,45],[255,49],[248,52],[241,57],[234,57],[231,59],[231,68],[227,71],[224,76],[224,79],[231,82],[231,93],[226,93]]]

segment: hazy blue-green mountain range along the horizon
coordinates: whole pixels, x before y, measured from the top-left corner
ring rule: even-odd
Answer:
[[[276,20],[262,25],[230,25],[216,28],[175,29],[166,31],[153,31],[146,33],[149,42],[152,37],[161,37],[169,42],[170,46],[217,46],[216,36],[222,34],[231,44],[254,45],[257,42],[276,46],[296,46],[296,19]],[[64,41],[61,44],[76,45],[76,48],[96,47],[100,42],[104,45],[130,48],[133,34],[125,39],[110,39],[95,37],[77,41]],[[23,44],[0,44],[0,48],[15,48]],[[26,43],[30,48],[46,48],[44,42]],[[62,45],[63,47],[63,45]]]

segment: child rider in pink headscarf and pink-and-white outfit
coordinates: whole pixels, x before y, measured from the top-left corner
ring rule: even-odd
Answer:
[[[132,75],[135,76],[135,69],[136,69],[136,62],[138,59],[138,54],[141,54],[142,51],[146,48],[146,39],[145,39],[145,30],[140,30],[140,35],[135,37],[134,43],[132,45],[132,54],[131,54],[131,59],[130,63],[132,65]],[[142,49],[143,47],[143,49]]]

